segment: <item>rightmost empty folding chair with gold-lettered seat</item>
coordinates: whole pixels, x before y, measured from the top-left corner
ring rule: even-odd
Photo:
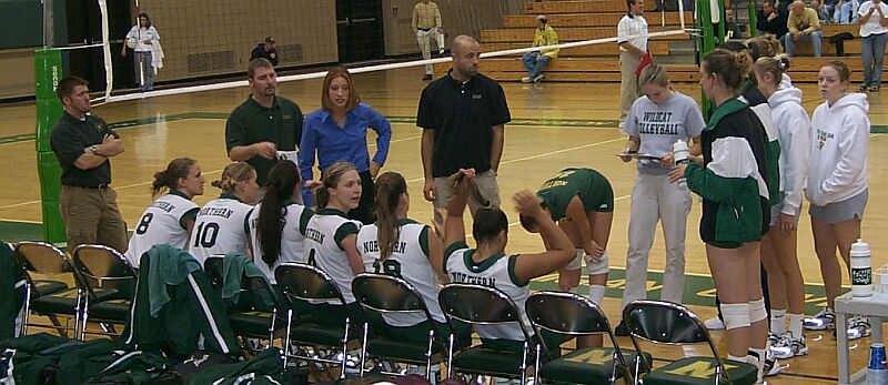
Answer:
[[[644,375],[645,385],[755,384],[757,381],[755,365],[722,359],[706,326],[694,312],[683,305],[665,301],[633,301],[623,310],[623,320],[638,352],[642,352],[638,338],[669,345],[706,343],[713,352],[713,357],[687,357],[650,369]],[[643,367],[653,367],[646,355],[640,357]],[[636,384],[642,381],[638,378],[638,368],[636,365]]]

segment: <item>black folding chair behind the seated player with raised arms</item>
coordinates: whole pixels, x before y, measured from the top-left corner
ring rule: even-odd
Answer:
[[[512,298],[494,287],[452,283],[441,290],[438,302],[448,323],[456,320],[473,326],[517,324],[524,336],[521,353],[494,351],[477,345],[454,355],[455,336],[451,334],[447,337],[447,377],[455,369],[468,374],[521,378],[522,384],[527,383],[527,361],[532,355],[533,342],[522,321],[522,313]],[[543,351],[547,352],[545,348]]]

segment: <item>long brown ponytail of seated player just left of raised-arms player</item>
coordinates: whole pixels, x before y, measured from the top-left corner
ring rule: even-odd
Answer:
[[[401,202],[401,194],[407,192],[407,182],[396,172],[386,172],[376,178],[375,188],[379,261],[385,261],[392,255],[401,237],[401,226],[397,225],[397,205]]]

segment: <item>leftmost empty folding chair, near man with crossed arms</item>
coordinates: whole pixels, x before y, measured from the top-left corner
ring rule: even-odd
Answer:
[[[27,282],[21,335],[28,334],[28,326],[51,327],[59,334],[80,336],[80,302],[83,293],[79,287],[69,288],[67,282],[58,280],[36,280],[34,275],[47,275],[74,283],[74,269],[71,261],[58,247],[46,242],[22,241],[16,245],[16,261],[24,272]],[[32,324],[31,313],[46,315],[52,325]],[[63,326],[58,315],[74,320],[74,326]]]

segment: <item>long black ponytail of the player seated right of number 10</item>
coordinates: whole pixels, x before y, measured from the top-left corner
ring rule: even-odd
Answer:
[[[278,162],[269,171],[268,190],[262,204],[259,206],[259,221],[256,224],[256,240],[262,251],[262,261],[269,266],[280,260],[281,233],[283,232],[286,206],[284,202],[293,196],[299,185],[299,169],[296,163]],[[291,224],[296,225],[296,224]]]

